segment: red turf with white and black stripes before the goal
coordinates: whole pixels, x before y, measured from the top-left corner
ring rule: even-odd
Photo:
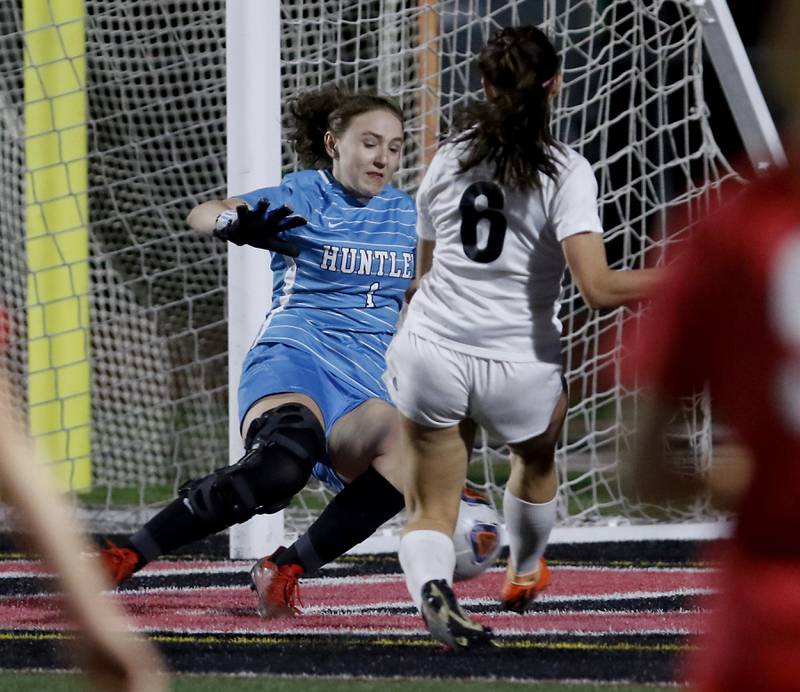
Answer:
[[[425,632],[399,575],[336,577],[334,572],[304,580],[300,588],[303,613],[297,618],[264,621],[255,612],[253,592],[243,584],[248,567],[249,563],[227,561],[154,563],[143,573],[141,588],[122,591],[113,598],[125,603],[137,628],[159,632]],[[704,618],[702,608],[692,605],[693,599],[703,598],[711,586],[711,573],[705,569],[554,565],[552,573],[552,586],[525,615],[497,608],[502,580],[499,569],[458,583],[456,592],[462,604],[477,612],[501,637],[525,632],[692,634],[701,629]],[[0,628],[58,630],[66,626],[56,597],[36,589],[29,590],[29,595],[13,593],[13,580],[30,581],[43,574],[35,562],[0,563],[0,581],[5,582]],[[239,583],[202,587],[148,584],[148,577],[193,574],[218,575],[222,582],[232,579]]]

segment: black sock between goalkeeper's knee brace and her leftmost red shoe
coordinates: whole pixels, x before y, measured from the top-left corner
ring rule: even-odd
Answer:
[[[128,542],[141,556],[139,567],[142,567],[159,555],[226,528],[222,522],[209,523],[198,518],[184,499],[178,497],[134,533]]]

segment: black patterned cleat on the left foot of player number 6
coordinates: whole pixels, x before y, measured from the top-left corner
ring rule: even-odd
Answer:
[[[494,645],[492,630],[471,620],[461,610],[444,579],[432,579],[422,587],[422,619],[431,635],[451,649]]]

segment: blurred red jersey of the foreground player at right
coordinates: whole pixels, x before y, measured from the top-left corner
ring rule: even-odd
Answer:
[[[754,456],[737,538],[800,557],[800,185],[753,183],[681,249],[654,298],[639,367],[656,391],[711,389]]]

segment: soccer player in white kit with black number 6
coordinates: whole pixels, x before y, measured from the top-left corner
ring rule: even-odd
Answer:
[[[567,410],[558,320],[568,265],[593,308],[645,296],[660,270],[609,268],[589,163],[550,133],[559,57],[533,26],[479,55],[486,99],[470,106],[417,193],[417,276],[385,379],[410,464],[400,564],[431,634],[491,641],[450,588],[452,534],[476,426],[507,442],[510,560],[501,603],[522,612],[548,583],[555,445]]]

